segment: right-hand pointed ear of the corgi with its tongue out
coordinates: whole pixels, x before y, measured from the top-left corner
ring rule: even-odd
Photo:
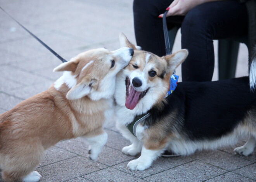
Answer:
[[[163,56],[168,62],[168,70],[174,71],[185,59],[187,58],[189,51],[187,49],[182,49],[173,54]]]

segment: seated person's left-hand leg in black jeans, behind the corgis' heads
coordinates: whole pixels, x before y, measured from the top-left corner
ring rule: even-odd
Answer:
[[[134,0],[133,18],[137,45],[158,56],[165,55],[163,20],[158,18],[173,0]]]

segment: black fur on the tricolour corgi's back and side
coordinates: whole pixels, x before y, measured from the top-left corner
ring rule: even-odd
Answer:
[[[143,125],[152,127],[159,120],[185,133],[192,141],[216,139],[234,130],[248,111],[256,118],[256,92],[249,89],[249,78],[215,82],[180,82],[163,102],[155,105]],[[178,115],[170,117],[178,109]],[[173,121],[175,120],[175,121]],[[166,132],[173,131],[166,128]]]

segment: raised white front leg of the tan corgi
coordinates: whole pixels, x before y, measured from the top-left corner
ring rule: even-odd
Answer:
[[[96,133],[100,133],[97,136],[84,136],[86,141],[90,145],[89,155],[91,160],[96,160],[103,148],[107,143],[107,133],[102,128],[100,128]]]

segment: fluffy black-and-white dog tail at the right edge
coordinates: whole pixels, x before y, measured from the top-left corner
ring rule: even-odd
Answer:
[[[249,56],[249,80],[250,80],[250,88],[251,90],[256,89],[256,45],[253,47],[253,51],[251,51],[251,55]]]

